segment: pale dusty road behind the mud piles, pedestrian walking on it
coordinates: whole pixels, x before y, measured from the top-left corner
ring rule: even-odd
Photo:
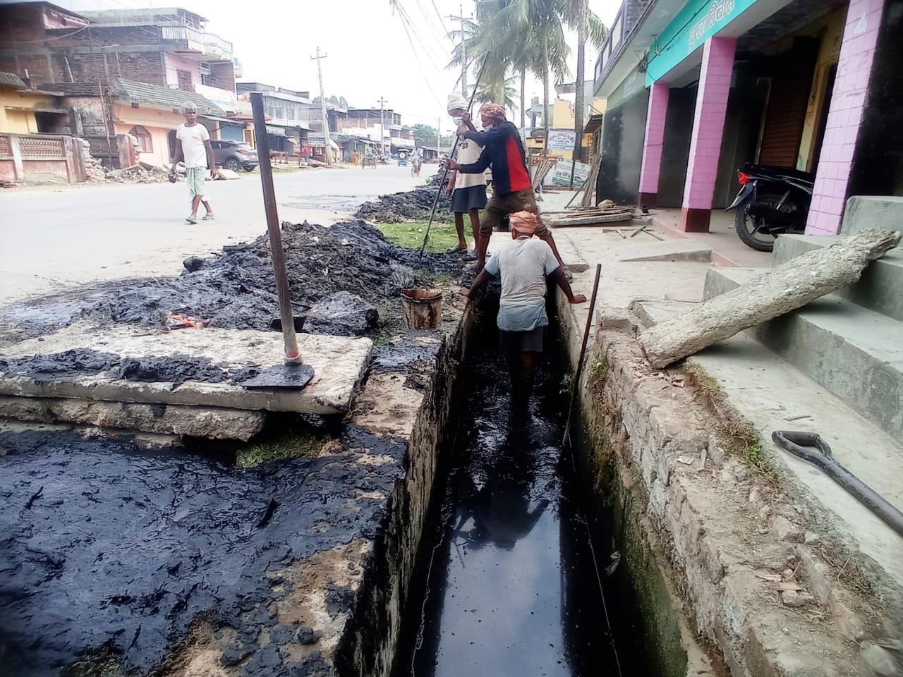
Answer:
[[[366,199],[414,188],[435,168],[426,165],[419,178],[395,165],[280,173],[279,218],[334,223]],[[217,219],[190,226],[184,182],[4,190],[0,303],[72,283],[178,274],[186,256],[266,232],[257,172],[217,181],[209,199]]]

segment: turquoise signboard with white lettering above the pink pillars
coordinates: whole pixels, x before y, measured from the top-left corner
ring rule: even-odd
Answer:
[[[757,0],[691,0],[675,14],[649,50],[646,86],[703,46]]]

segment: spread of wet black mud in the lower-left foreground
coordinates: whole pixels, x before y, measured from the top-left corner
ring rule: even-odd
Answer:
[[[101,649],[151,672],[199,616],[243,674],[331,673],[299,651],[312,628],[273,613],[293,593],[280,571],[374,538],[386,501],[362,494],[387,495],[405,462],[404,443],[355,426],[329,456],[244,471],[74,433],[2,433],[0,448],[0,674],[17,677]],[[351,589],[327,581],[327,609],[349,610]]]

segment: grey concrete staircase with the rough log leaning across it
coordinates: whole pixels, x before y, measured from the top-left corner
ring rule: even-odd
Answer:
[[[772,265],[835,239],[780,236]],[[712,268],[704,297],[728,292],[764,270]],[[889,252],[870,264],[859,282],[747,334],[882,430],[903,439],[903,252]]]

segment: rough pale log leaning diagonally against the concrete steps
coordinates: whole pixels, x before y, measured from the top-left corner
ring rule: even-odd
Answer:
[[[900,234],[872,228],[778,265],[749,283],[659,322],[639,335],[649,363],[661,368],[724,338],[805,306],[856,282],[870,261],[897,246]]]

